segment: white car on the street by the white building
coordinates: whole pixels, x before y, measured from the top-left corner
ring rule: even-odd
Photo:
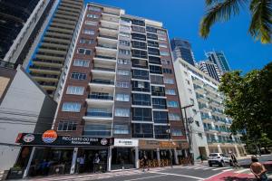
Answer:
[[[219,165],[224,167],[226,164],[232,166],[232,159],[222,153],[210,153],[208,157],[209,167]]]

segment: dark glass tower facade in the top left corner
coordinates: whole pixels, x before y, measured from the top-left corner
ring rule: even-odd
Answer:
[[[0,62],[38,3],[39,0],[0,1]]]

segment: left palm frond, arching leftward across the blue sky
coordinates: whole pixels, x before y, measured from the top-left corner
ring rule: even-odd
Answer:
[[[211,1],[211,0],[207,0]],[[210,5],[207,13],[200,23],[200,36],[207,38],[209,36],[210,27],[217,22],[226,22],[231,15],[237,15],[239,8],[245,5],[248,0],[225,0],[223,2]]]

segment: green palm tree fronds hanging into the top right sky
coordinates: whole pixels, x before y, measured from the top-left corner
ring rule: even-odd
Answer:
[[[251,22],[248,32],[261,43],[271,43],[272,0],[206,0],[207,13],[200,23],[200,36],[207,38],[210,27],[238,15],[240,8],[249,7]]]

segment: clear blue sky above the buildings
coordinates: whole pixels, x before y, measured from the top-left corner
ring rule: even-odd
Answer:
[[[87,0],[89,1],[89,0]],[[92,0],[125,9],[126,14],[160,21],[170,38],[180,37],[192,44],[197,61],[204,51],[224,51],[232,70],[260,69],[272,62],[272,44],[264,45],[248,35],[250,14],[245,9],[228,23],[216,24],[207,40],[199,37],[199,21],[204,14],[204,0]]]

